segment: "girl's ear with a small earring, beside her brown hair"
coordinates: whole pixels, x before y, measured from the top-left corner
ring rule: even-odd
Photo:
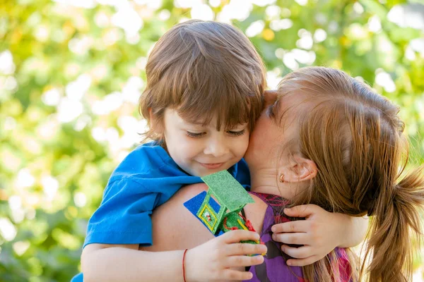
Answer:
[[[281,168],[283,182],[301,182],[317,176],[318,168],[314,161],[296,154],[290,164]]]

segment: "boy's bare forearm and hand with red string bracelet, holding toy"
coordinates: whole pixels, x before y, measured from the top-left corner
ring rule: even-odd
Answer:
[[[266,246],[240,243],[245,240],[259,240],[259,234],[247,230],[227,232],[188,250],[184,263],[182,250],[145,252],[134,250],[134,245],[132,250],[128,246],[95,245],[83,252],[84,281],[250,280],[252,273],[245,271],[245,266],[263,263],[264,257],[257,254],[266,252]]]

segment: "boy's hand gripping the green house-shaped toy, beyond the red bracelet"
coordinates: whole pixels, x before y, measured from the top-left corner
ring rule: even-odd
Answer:
[[[262,254],[266,246],[240,243],[242,240],[259,240],[259,235],[245,230],[230,231],[188,250],[184,259],[187,282],[251,279],[252,274],[244,267],[261,264],[264,257],[247,255]],[[235,269],[240,266],[243,271]]]

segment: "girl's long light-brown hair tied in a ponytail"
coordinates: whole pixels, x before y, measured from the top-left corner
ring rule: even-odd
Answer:
[[[411,281],[411,237],[416,235],[420,242],[424,178],[423,167],[404,171],[408,141],[399,108],[332,68],[302,68],[286,75],[278,90],[280,97],[307,97],[307,113],[297,114],[299,140],[293,144],[300,144],[296,151],[318,168],[310,187],[293,204],[312,203],[330,212],[369,215],[359,271],[351,257],[353,280]],[[336,261],[332,252],[304,267],[305,278],[338,281]]]

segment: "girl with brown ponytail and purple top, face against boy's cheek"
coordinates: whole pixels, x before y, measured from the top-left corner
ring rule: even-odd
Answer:
[[[316,226],[312,221],[319,213],[317,205],[328,212],[372,219],[359,268],[355,266],[358,259],[349,252],[335,250],[299,272],[298,267],[285,264],[286,258],[276,260],[273,252],[273,256],[266,255],[264,265],[250,268],[254,281],[411,281],[410,232],[420,235],[424,179],[422,168],[402,176],[408,143],[397,116],[399,108],[367,85],[331,68],[290,73],[276,93],[257,121],[245,155],[256,200],[245,207],[247,219],[262,231],[264,239],[272,235],[266,222],[269,207],[274,221],[288,221],[286,214],[304,216],[306,220],[282,223],[285,230],[300,232],[273,234],[274,240],[285,243],[283,252],[293,257],[310,249],[309,245],[288,244],[300,244],[309,236],[302,231]],[[174,247],[189,248],[208,240],[206,228],[182,207],[182,202],[203,189],[203,184],[184,188],[155,211],[155,250],[170,247],[163,234],[175,226],[179,226],[175,233],[179,240]],[[179,220],[182,216],[184,221]],[[165,220],[170,226],[159,230]],[[195,239],[189,235],[194,229]],[[326,237],[333,236],[329,226]],[[196,254],[200,248],[187,252],[189,271],[199,271],[190,266],[194,264],[190,251]],[[201,271],[222,267],[213,264]]]

